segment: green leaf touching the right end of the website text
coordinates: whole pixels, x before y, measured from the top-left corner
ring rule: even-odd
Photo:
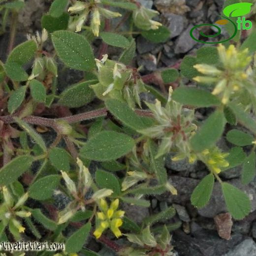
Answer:
[[[87,223],[75,231],[70,237],[68,237],[65,243],[65,251],[67,253],[79,252],[86,242],[91,227],[91,223]]]

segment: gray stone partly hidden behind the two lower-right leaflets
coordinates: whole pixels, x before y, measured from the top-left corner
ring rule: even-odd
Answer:
[[[240,179],[233,179],[229,183],[235,186],[236,188],[239,188],[240,190],[246,192],[249,198],[251,199],[251,203],[252,203],[251,212],[256,210],[255,188],[250,184],[247,186],[242,185]],[[216,182],[214,185],[213,193],[209,203],[205,207],[199,209],[198,213],[203,217],[213,218],[217,214],[223,213],[223,212],[227,212],[226,205],[225,205],[221,185]]]

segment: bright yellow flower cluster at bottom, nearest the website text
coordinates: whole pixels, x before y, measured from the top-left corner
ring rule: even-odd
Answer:
[[[108,206],[105,199],[100,199],[99,208],[101,212],[97,212],[98,224],[94,235],[99,238],[105,229],[110,228],[114,235],[118,238],[122,235],[119,227],[122,226],[125,212],[117,210],[119,205],[119,199],[111,202],[110,207]]]

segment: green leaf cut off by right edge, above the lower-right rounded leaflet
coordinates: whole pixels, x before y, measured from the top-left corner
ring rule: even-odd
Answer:
[[[244,161],[242,183],[248,184],[254,180],[256,174],[256,154],[252,152]]]

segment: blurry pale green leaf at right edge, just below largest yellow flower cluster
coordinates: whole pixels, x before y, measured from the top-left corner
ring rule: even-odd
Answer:
[[[230,102],[228,106],[235,113],[238,122],[256,134],[256,121],[237,104]]]

